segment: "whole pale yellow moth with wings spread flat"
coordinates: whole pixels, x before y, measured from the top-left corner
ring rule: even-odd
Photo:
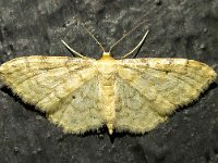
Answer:
[[[83,134],[106,125],[110,135],[114,129],[144,134],[196,100],[216,79],[211,67],[193,60],[124,59],[148,30],[121,60],[110,51],[123,37],[106,52],[88,34],[102,49],[99,60],[80,54],[62,40],[77,58],[22,57],[0,66],[1,82],[65,133]]]

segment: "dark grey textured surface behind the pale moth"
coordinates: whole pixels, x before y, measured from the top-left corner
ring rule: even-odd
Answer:
[[[0,62],[31,55],[71,55],[60,39],[88,57],[148,20],[114,49],[116,58],[150,33],[137,57],[187,58],[218,72],[218,0],[0,0]],[[153,131],[134,136],[107,130],[64,135],[46,116],[0,91],[0,162],[218,162],[218,87],[174,113]]]

